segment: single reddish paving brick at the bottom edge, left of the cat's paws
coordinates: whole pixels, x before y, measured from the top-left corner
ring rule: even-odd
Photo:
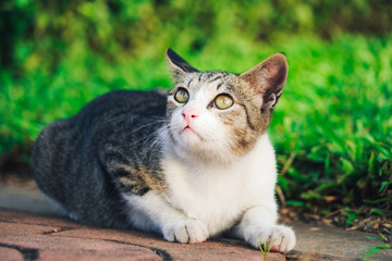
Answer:
[[[148,248],[99,239],[51,236],[56,233],[53,231],[60,229],[0,223],[0,246],[35,249],[38,260],[161,260]]]

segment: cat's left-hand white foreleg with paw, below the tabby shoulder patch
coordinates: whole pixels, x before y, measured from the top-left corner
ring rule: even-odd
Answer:
[[[135,228],[161,233],[168,241],[201,243],[209,235],[207,226],[173,208],[161,195],[150,190],[144,196],[125,196],[131,207],[128,217]]]

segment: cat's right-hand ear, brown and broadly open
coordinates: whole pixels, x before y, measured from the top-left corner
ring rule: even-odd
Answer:
[[[240,77],[246,80],[256,95],[261,99],[261,111],[272,110],[281,97],[287,79],[289,64],[283,53],[275,53],[250,69]]]

